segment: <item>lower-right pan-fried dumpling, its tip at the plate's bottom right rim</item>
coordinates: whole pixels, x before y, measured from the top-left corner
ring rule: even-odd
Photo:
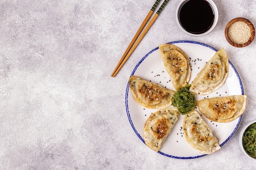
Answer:
[[[218,140],[196,110],[184,115],[182,128],[186,141],[198,152],[211,154],[220,149]]]

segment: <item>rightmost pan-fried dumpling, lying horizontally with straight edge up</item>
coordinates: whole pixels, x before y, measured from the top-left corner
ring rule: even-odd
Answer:
[[[199,111],[212,121],[229,122],[245,111],[246,95],[213,97],[197,101]]]

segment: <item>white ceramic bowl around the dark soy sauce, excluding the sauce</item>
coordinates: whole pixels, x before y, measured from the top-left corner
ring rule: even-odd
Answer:
[[[180,24],[180,20],[179,20],[179,13],[180,13],[180,8],[182,7],[182,5],[187,2],[189,0],[182,0],[180,2],[180,4],[178,5],[177,7],[177,10],[176,10],[176,20],[177,20],[177,23],[178,25],[180,26],[180,29],[182,29],[185,33],[189,34],[189,35],[193,35],[193,36],[200,36],[200,35],[205,35],[209,32],[211,32],[214,27],[216,26],[217,22],[218,22],[218,18],[219,18],[219,13],[218,13],[218,8],[216,6],[216,4],[213,2],[213,0],[206,0],[207,2],[209,2],[209,4],[211,5],[212,9],[213,9],[213,12],[214,12],[214,20],[213,20],[213,24],[211,25],[211,27],[204,33],[200,33],[200,34],[193,34],[193,33],[190,33],[188,31],[186,31],[182,25]]]

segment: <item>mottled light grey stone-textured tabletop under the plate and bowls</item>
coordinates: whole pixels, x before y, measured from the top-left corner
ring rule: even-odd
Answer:
[[[256,40],[235,48],[229,20],[256,25],[256,0],[214,0],[216,28],[193,37],[177,26],[170,0],[115,78],[111,73],[155,0],[1,0],[0,169],[254,169],[238,135],[256,119]],[[166,42],[193,40],[225,48],[247,95],[238,129],[221,150],[193,160],[148,149],[125,108],[128,78],[141,57]]]

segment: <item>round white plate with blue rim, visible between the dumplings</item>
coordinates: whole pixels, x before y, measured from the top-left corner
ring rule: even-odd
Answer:
[[[192,69],[191,78],[189,81],[190,84],[193,79],[195,79],[195,76],[199,73],[199,71],[204,67],[206,62],[208,62],[217,51],[211,46],[194,41],[175,41],[170,42],[169,44],[174,44],[182,51],[184,51],[186,55],[188,55]],[[146,79],[147,81],[155,82],[162,86],[166,86],[166,88],[175,90],[172,83],[169,81],[170,77],[164,68],[164,64],[162,62],[162,58],[160,57],[158,47],[150,51],[140,60],[140,62],[132,71],[131,75],[141,77],[142,79]],[[218,90],[214,91],[209,95],[196,95],[195,97],[197,100],[200,100],[204,97],[225,97],[229,95],[243,95],[243,86],[240,81],[240,77],[231,62],[229,62],[229,74],[225,84],[223,84]],[[197,108],[196,110],[198,111],[198,113],[200,113]],[[128,84],[126,88],[126,111],[133,130],[135,131],[139,139],[144,142],[144,124],[148,117],[151,115],[151,113],[154,113],[155,111],[157,111],[157,109],[148,109],[139,105],[132,97],[132,93],[129,90]],[[242,117],[240,116],[234,121],[230,121],[227,123],[219,123],[210,121],[203,115],[201,116],[211,128],[213,135],[218,139],[220,146],[223,146],[234,134]],[[183,117],[184,115],[180,115],[171,134],[168,135],[166,141],[164,142],[162,148],[159,150],[158,153],[167,157],[177,159],[193,159],[204,156],[200,154],[197,150],[193,149],[186,142],[186,139],[183,135],[183,130],[181,128]],[[147,146],[145,145],[145,147]]]

